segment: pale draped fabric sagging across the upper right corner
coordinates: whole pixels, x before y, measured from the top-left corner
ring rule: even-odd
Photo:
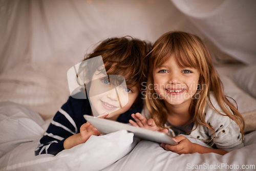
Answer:
[[[172,0],[221,51],[256,63],[256,1]]]

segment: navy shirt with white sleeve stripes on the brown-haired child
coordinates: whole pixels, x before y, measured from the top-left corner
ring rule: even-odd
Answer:
[[[117,121],[129,123],[132,114],[141,112],[141,108],[134,108],[121,114]],[[53,117],[45,135],[40,139],[35,149],[35,155],[52,154],[61,152],[63,142],[70,136],[80,132],[80,127],[86,123],[83,115],[91,115],[91,106],[88,99],[74,99],[69,97],[68,101],[61,106]]]

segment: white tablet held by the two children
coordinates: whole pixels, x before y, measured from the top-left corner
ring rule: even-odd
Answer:
[[[169,136],[161,132],[146,130],[141,127],[120,123],[113,120],[94,118],[93,116],[89,116],[89,115],[83,115],[83,117],[87,121],[89,121],[102,134],[109,134],[119,130],[126,130],[128,132],[134,133],[134,136],[145,139],[145,140],[171,144],[171,145],[178,144],[172,138],[170,138]]]

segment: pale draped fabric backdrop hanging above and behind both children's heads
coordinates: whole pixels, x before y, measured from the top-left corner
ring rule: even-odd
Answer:
[[[19,62],[72,66],[107,37],[154,42],[170,30],[199,35],[217,55],[256,63],[255,9],[253,0],[0,0],[0,73]]]

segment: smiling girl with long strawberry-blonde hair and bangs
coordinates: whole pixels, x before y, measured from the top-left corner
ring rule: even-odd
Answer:
[[[244,120],[225,97],[203,41],[185,32],[168,32],[154,44],[145,103],[151,118],[133,114],[134,126],[168,129],[178,145],[161,144],[178,154],[226,154],[243,146]],[[179,134],[214,143],[208,148]],[[177,136],[179,135],[179,136]],[[218,148],[218,149],[217,149]]]

